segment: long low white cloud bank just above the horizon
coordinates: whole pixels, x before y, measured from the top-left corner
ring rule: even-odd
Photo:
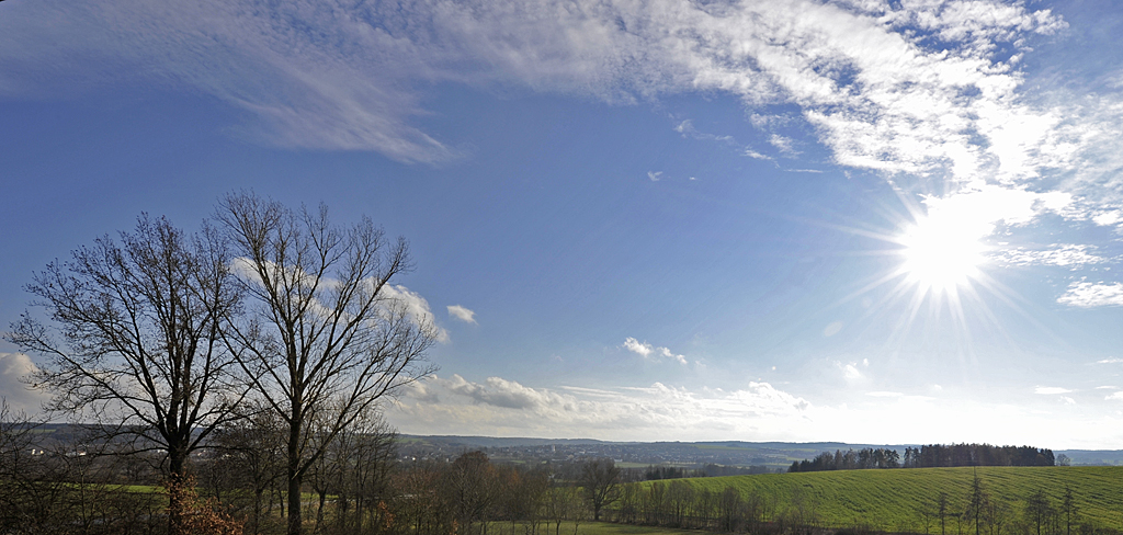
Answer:
[[[1053,448],[1101,449],[1123,436],[1123,418],[1088,412],[1061,397],[1024,406],[941,393],[862,391],[831,406],[761,381],[731,390],[661,382],[541,388],[500,377],[476,382],[453,376],[424,385],[424,399],[412,397],[411,390],[387,411],[387,419],[403,433],[660,441],[674,430],[674,440],[684,441],[1051,441]],[[1123,393],[1110,399],[1123,400]],[[1058,436],[1068,439],[1058,442]]]

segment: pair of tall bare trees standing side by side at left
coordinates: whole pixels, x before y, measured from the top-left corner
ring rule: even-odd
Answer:
[[[30,381],[52,411],[163,452],[173,487],[218,430],[268,413],[299,535],[301,490],[337,436],[431,372],[435,326],[393,286],[410,268],[405,241],[368,219],[230,194],[198,232],[141,215],[49,264],[27,286],[42,314],[6,339],[45,360]],[[185,495],[171,496],[168,528],[188,533]]]

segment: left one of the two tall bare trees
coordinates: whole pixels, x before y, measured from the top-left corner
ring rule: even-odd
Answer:
[[[138,450],[166,451],[179,483],[190,453],[239,399],[219,335],[238,294],[225,243],[209,230],[191,237],[141,215],[119,238],[102,237],[36,274],[27,289],[49,326],[25,313],[6,338],[49,359],[33,378],[54,394],[48,408],[88,411],[137,436]],[[173,500],[173,533],[179,510]]]

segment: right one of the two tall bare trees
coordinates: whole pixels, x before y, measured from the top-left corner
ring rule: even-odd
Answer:
[[[407,243],[387,243],[368,219],[332,225],[326,206],[293,211],[232,194],[217,219],[236,246],[247,313],[228,341],[256,394],[287,426],[289,533],[302,531],[304,474],[340,430],[384,396],[431,373],[430,321],[411,313],[394,277]],[[312,441],[309,425],[327,422]]]

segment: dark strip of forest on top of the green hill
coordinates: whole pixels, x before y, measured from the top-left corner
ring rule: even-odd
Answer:
[[[1057,464],[1052,450],[1033,446],[994,446],[990,444],[928,444],[905,448],[904,459],[896,450],[824,451],[814,459],[795,461],[788,472],[824,470],[864,470],[870,468],[935,467],[1052,467]]]

